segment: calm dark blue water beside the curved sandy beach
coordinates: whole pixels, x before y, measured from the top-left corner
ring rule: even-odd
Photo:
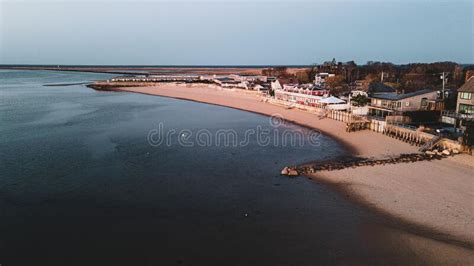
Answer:
[[[286,165],[344,155],[332,139],[183,145],[182,134],[199,130],[261,128],[271,143],[283,132],[314,132],[224,107],[68,85],[109,77],[0,71],[1,265],[412,260],[381,249],[384,218],[327,185],[279,175]],[[150,143],[160,125],[178,133]]]

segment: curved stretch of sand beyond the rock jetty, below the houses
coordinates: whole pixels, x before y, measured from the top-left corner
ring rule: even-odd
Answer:
[[[186,91],[188,90],[188,91]],[[189,95],[189,90],[205,90],[198,92],[198,95]],[[99,90],[100,91],[100,90]],[[118,87],[113,89],[105,89],[103,91],[119,91],[119,92],[131,92],[139,93],[152,96],[161,96],[174,98],[179,100],[186,100],[204,104],[210,104],[215,106],[232,108],[240,111],[256,113],[264,116],[279,115],[284,121],[293,123],[295,125],[308,128],[310,130],[317,130],[324,135],[336,140],[340,143],[352,156],[362,157],[388,157],[396,156],[400,153],[413,153],[417,152],[417,148],[407,143],[400,142],[398,140],[388,138],[381,134],[377,134],[370,131],[360,131],[355,133],[345,132],[345,126],[343,123],[330,119],[322,119],[315,117],[314,114],[298,110],[298,109],[286,109],[282,106],[273,105],[270,103],[261,102],[255,93],[233,91],[228,89],[214,89],[206,86],[192,86],[190,88],[179,85],[160,85],[150,87]],[[183,91],[186,91],[183,93]],[[211,99],[213,92],[219,93],[219,99]],[[222,99],[231,99],[227,102]],[[329,126],[328,126],[329,125]],[[365,133],[370,132],[370,137],[367,137]],[[357,136],[365,137],[365,141],[369,140],[369,145],[375,145],[367,147],[367,143],[357,143],[353,137]],[[357,137],[356,137],[357,138]],[[375,139],[373,139],[375,138]],[[372,142],[375,140],[376,142]],[[388,145],[380,145],[380,142],[388,143]]]

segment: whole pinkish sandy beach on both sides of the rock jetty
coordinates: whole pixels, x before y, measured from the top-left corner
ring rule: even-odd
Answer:
[[[356,156],[382,158],[417,152],[417,147],[383,134],[367,130],[347,133],[344,123],[262,102],[255,92],[175,84],[119,90],[280,115],[288,121],[330,135]],[[347,192],[348,197],[403,221],[408,231],[414,234],[430,236],[434,239],[432,241],[443,245],[449,243],[461,247],[463,256],[474,261],[473,170],[474,159],[458,155],[440,161],[319,172],[311,178],[334,184]]]

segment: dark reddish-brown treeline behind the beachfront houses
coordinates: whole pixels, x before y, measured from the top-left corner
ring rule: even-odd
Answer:
[[[288,82],[307,83],[314,80],[317,73],[332,73],[336,76],[328,80],[328,87],[344,90],[356,84],[369,86],[372,83],[383,81],[384,84],[406,92],[422,88],[440,88],[444,72],[446,88],[459,88],[466,78],[466,73],[474,71],[474,66],[462,66],[454,62],[413,63],[395,65],[390,62],[369,61],[365,65],[349,62],[325,62],[315,64],[307,70],[289,73],[287,68],[278,67],[264,70],[264,75],[277,76]]]

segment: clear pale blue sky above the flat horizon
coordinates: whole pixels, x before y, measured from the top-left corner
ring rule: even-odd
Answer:
[[[474,63],[473,16],[473,0],[0,0],[0,64]]]

